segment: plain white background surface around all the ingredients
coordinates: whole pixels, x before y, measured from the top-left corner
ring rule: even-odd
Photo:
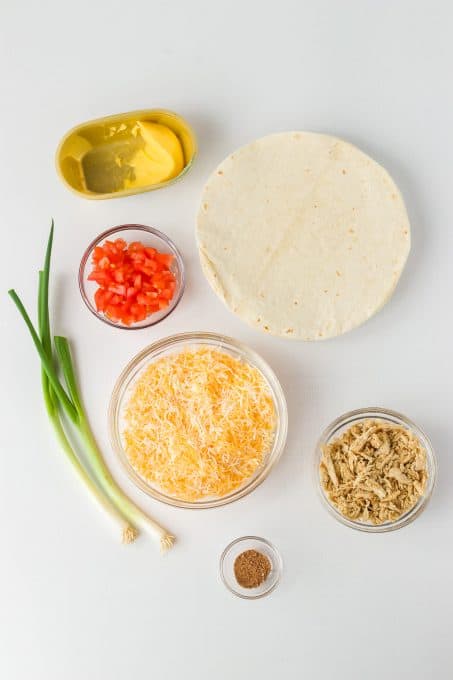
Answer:
[[[451,402],[452,57],[449,2],[1,2],[0,677],[425,680],[453,674]],[[167,190],[84,201],[60,184],[54,151],[84,120],[168,107],[186,115],[198,161]],[[406,198],[413,249],[391,302],[333,341],[291,343],[235,319],[205,283],[194,240],[202,185],[234,148],[308,129],[356,143]],[[6,298],[34,312],[50,217],[52,311],[73,341],[94,430],[124,488],[170,527],[120,545],[54,442],[37,357]],[[177,311],[126,333],[84,307],[76,270],[105,228],[167,232],[187,264]],[[258,350],[287,395],[286,452],[250,497],[211,511],[135,492],[109,450],[106,409],[125,363],[183,330],[228,333]],[[438,485],[410,527],[367,535],[337,524],[312,477],[316,439],[355,407],[382,405],[432,437]],[[233,538],[275,542],[284,578],[246,602],[219,582]]]

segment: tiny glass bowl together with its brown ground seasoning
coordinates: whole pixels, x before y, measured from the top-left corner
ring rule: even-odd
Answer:
[[[277,549],[259,536],[232,541],[220,557],[220,576],[234,595],[257,600],[277,587],[283,563]]]

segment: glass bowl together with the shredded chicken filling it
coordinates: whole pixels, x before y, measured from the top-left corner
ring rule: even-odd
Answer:
[[[345,413],[324,430],[314,474],[322,504],[336,520],[383,533],[423,512],[437,462],[418,425],[401,413],[369,407]]]

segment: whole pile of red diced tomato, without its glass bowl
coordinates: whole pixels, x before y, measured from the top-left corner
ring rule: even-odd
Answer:
[[[126,326],[166,309],[176,290],[170,270],[170,253],[159,253],[139,241],[104,241],[93,250],[93,269],[88,279],[99,288],[96,309],[115,323]]]

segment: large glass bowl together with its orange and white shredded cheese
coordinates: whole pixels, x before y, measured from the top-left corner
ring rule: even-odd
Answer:
[[[182,333],[126,366],[109,408],[112,446],[147,494],[213,508],[266,479],[286,442],[286,401],[253,350],[215,333]]]

